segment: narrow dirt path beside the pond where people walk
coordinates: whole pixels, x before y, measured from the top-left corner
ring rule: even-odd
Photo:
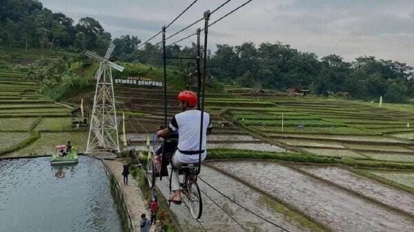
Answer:
[[[135,231],[139,232],[141,214],[146,213],[146,215],[149,215],[148,209],[146,209],[146,201],[144,198],[141,198],[141,189],[139,189],[137,182],[132,176],[129,176],[128,178],[128,185],[124,185],[123,176],[121,176],[123,169],[121,162],[111,160],[103,160],[103,162],[106,163],[110,171],[114,174],[115,179],[117,179],[122,194],[124,195],[126,207],[128,208],[132,222],[134,223]]]

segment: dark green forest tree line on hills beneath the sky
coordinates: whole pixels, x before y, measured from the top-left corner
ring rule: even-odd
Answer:
[[[111,34],[91,17],[77,24],[60,12],[43,8],[34,0],[3,0],[0,6],[0,45],[4,48],[63,48],[75,52],[105,52]],[[277,39],[275,39],[277,41]],[[146,43],[138,49],[138,36],[113,39],[114,55],[121,61],[161,65],[161,46]],[[398,61],[360,56],[346,62],[331,54],[321,59],[283,43],[251,42],[242,45],[217,44],[209,48],[208,72],[220,83],[244,87],[286,90],[311,89],[312,94],[346,93],[353,98],[406,102],[414,98],[413,67]],[[194,56],[195,44],[172,45],[167,55]],[[178,65],[172,61],[169,65]]]

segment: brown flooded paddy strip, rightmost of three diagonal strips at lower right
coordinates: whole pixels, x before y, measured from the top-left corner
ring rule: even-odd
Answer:
[[[390,207],[414,215],[414,195],[380,182],[359,176],[339,167],[296,166],[323,180],[328,180],[341,187],[355,191],[362,196],[373,198]]]

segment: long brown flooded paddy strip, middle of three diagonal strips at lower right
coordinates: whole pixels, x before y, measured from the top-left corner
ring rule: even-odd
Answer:
[[[412,218],[275,162],[214,162],[214,167],[343,232],[413,231]]]

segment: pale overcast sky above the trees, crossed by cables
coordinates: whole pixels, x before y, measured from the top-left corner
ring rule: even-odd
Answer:
[[[43,6],[78,21],[97,19],[112,38],[134,34],[141,40],[155,34],[194,0],[41,0]],[[173,26],[172,34],[213,10],[225,0],[199,0]],[[232,0],[211,20],[246,0]],[[201,27],[203,23],[198,26]],[[170,42],[194,33],[195,25]],[[413,0],[253,0],[210,28],[209,46],[281,41],[293,48],[315,52],[319,58],[339,54],[346,61],[372,55],[414,65]],[[158,42],[161,36],[154,40]],[[186,40],[180,45],[186,45]],[[168,41],[167,41],[168,43]],[[213,49],[214,50],[214,49]]]

